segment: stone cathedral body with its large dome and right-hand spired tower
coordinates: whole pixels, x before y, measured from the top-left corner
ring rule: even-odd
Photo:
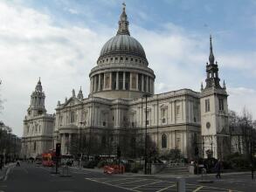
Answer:
[[[154,94],[156,76],[142,45],[130,36],[128,24],[124,7],[116,35],[102,47],[89,74],[89,97],[73,91],[70,99],[58,102],[54,138],[61,142],[62,153],[72,153],[71,143],[88,140],[92,132],[93,142],[102,142],[102,133],[110,129],[116,146],[121,130],[131,127],[144,134],[147,125],[149,139],[161,153],[180,149],[184,157],[192,158],[198,147],[204,156],[211,149],[214,157],[221,157],[228,131],[227,93],[219,85],[212,45],[201,93],[182,89]],[[81,138],[81,132],[87,136]]]

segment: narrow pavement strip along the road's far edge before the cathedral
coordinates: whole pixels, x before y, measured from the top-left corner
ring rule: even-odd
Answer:
[[[79,168],[79,167],[72,167],[73,169],[85,170],[93,173],[100,173],[103,174],[102,168]],[[201,175],[175,175],[175,174],[155,174],[155,175],[144,175],[144,174],[135,174],[135,173],[124,173],[121,174],[122,176],[131,176],[131,177],[158,177],[158,178],[199,178]],[[207,176],[215,176],[216,174],[207,174]],[[231,173],[222,173],[221,175],[251,175],[250,171],[246,172],[231,172]]]

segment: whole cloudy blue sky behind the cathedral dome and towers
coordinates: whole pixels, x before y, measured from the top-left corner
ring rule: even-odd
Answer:
[[[100,49],[117,30],[119,0],[0,1],[0,120],[23,134],[31,92],[41,77],[48,113],[82,87]],[[256,1],[127,0],[131,36],[156,74],[156,93],[200,90],[209,35],[225,79],[229,109],[256,119]],[[205,85],[205,84],[204,84]]]

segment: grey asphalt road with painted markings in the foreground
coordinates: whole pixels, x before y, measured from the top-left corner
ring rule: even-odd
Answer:
[[[54,168],[36,167],[22,163],[10,168],[10,173],[0,182],[0,192],[84,192],[84,191],[176,191],[175,178],[136,175],[104,175],[79,168],[70,168],[70,177],[52,174]],[[213,183],[200,184],[198,178],[186,179],[186,191],[255,191],[256,182],[250,175],[213,177]]]

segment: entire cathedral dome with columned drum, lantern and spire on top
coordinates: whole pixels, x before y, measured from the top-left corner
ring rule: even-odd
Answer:
[[[156,76],[142,45],[130,36],[124,3],[118,24],[116,35],[103,45],[97,66],[89,74],[89,97],[138,99],[153,95]]]

